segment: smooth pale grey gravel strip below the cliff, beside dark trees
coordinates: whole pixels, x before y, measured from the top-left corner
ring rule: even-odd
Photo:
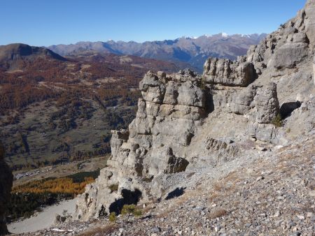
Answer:
[[[10,223],[8,225],[8,230],[10,231],[10,233],[29,233],[36,230],[49,228],[55,221],[56,214],[62,215],[62,212],[64,210],[66,210],[68,214],[72,214],[75,205],[76,199],[59,202],[59,205],[46,207],[45,209],[43,209],[43,212],[40,212],[36,216],[33,216],[29,219]]]

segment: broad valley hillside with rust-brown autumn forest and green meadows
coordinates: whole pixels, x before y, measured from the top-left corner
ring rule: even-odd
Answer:
[[[110,152],[111,129],[127,128],[134,118],[144,73],[178,69],[115,54],[10,53],[0,61],[0,140],[15,170]]]

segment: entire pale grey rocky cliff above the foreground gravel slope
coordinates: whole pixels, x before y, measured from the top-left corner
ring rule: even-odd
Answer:
[[[76,219],[168,198],[195,173],[314,135],[314,13],[309,0],[246,56],[208,59],[203,75],[146,73],[137,117],[112,132],[109,166],[78,198]]]

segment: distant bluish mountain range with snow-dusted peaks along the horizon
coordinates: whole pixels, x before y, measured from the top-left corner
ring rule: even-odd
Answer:
[[[83,52],[103,52],[113,54],[127,54],[137,57],[172,61],[180,67],[190,66],[202,71],[204,61],[208,57],[237,59],[246,54],[250,45],[255,45],[265,38],[266,34],[234,34],[225,33],[200,37],[181,37],[175,40],[106,42],[78,42],[70,45],[51,45],[48,49],[62,56],[78,55]]]

